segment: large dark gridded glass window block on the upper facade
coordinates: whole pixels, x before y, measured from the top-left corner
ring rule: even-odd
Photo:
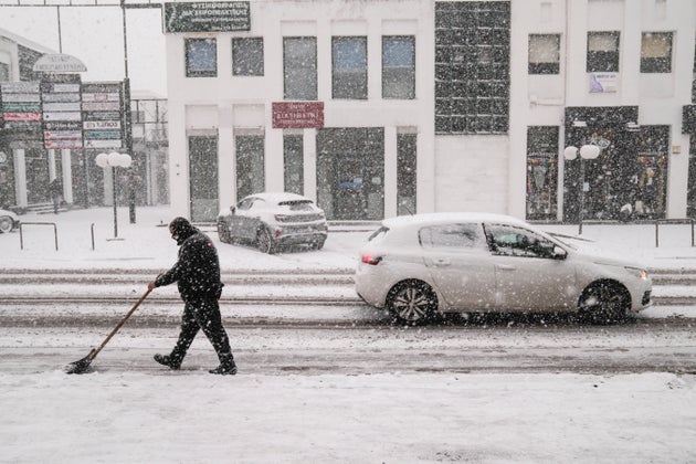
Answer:
[[[435,131],[506,134],[510,3],[435,2]]]

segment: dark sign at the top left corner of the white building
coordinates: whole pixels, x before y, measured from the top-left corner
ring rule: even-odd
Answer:
[[[250,31],[247,1],[165,3],[165,33]]]

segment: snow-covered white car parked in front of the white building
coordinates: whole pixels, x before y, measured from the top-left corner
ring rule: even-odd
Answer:
[[[324,211],[295,193],[249,196],[218,215],[221,242],[244,241],[264,253],[285,245],[307,245],[321,250],[328,225]]]

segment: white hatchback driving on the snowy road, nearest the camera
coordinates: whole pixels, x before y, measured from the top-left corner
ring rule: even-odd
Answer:
[[[355,282],[366,303],[407,323],[470,312],[577,312],[613,323],[652,304],[639,264],[584,254],[525,221],[486,213],[382,221]]]

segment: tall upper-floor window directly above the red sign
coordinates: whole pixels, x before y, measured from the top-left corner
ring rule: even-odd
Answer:
[[[285,99],[317,99],[317,39],[283,39]]]

